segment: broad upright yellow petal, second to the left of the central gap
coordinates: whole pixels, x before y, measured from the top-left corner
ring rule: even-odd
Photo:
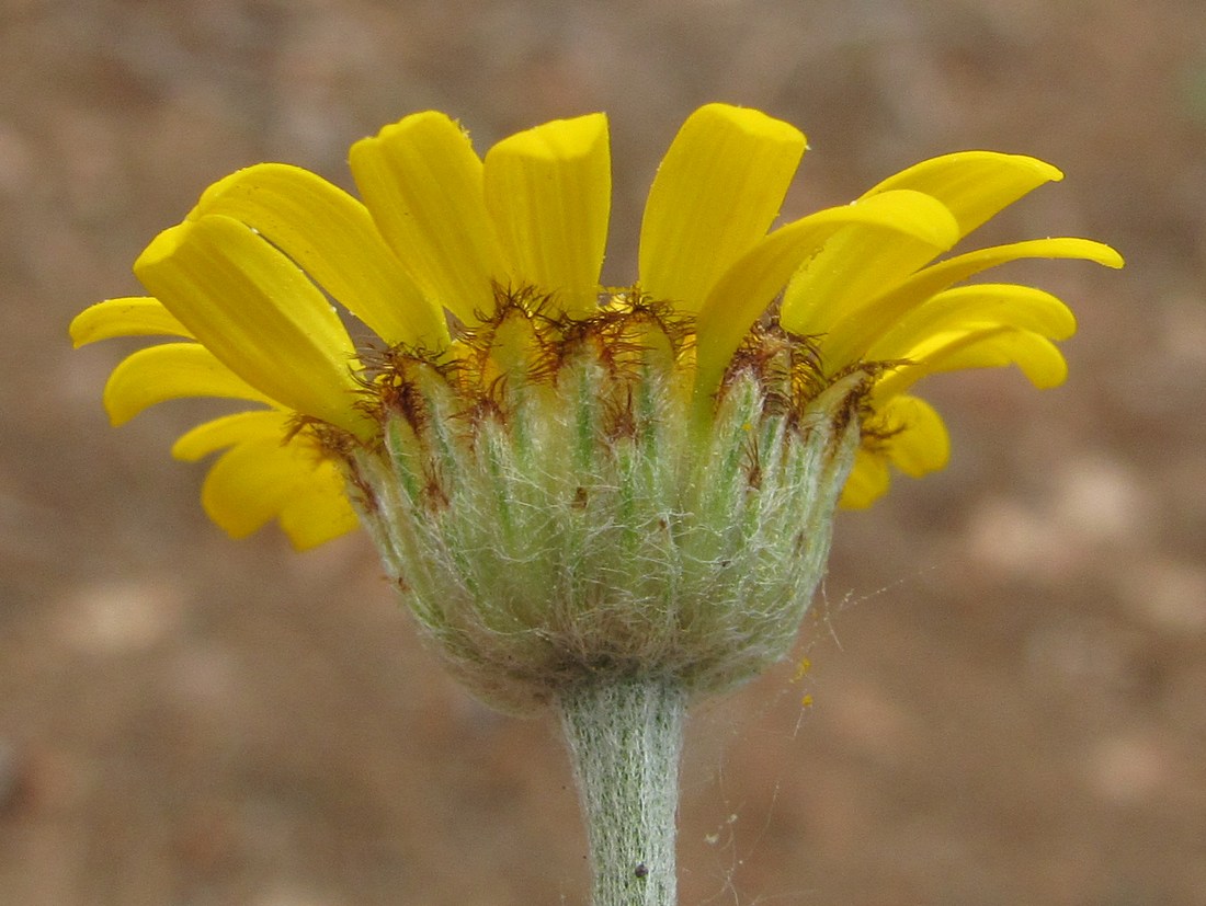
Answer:
[[[377,229],[423,293],[466,324],[509,273],[492,233],[481,159],[443,113],[415,113],[352,146],[352,176]]]

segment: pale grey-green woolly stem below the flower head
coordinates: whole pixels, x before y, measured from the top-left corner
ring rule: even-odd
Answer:
[[[674,906],[686,693],[663,677],[599,678],[557,700],[590,840],[593,906]]]

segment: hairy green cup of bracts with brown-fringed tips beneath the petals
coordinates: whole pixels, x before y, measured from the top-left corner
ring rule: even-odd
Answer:
[[[645,367],[617,430],[614,367],[590,343],[472,413],[455,382],[418,371],[382,448],[351,458],[351,486],[410,610],[478,696],[527,711],[603,675],[715,693],[790,651],[865,375],[792,408],[772,405],[790,388],[747,367],[697,430],[674,371]]]

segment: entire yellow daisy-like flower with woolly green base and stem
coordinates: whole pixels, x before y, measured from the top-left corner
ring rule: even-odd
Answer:
[[[965,281],[1024,258],[1122,265],[1069,237],[944,257],[1060,178],[995,152],[774,226],[804,148],[761,112],[696,111],[650,190],[637,280],[613,288],[602,114],[480,158],[452,119],[417,113],[352,147],[362,200],[283,164],[216,183],[137,259],[151,295],[100,302],[71,334],[174,337],[113,371],[112,420],[244,404],[172,449],[222,451],[211,518],[235,536],[276,519],[304,548],[358,516],[472,689],[561,707],[587,811],[605,808],[592,753],[677,726],[686,696],[790,648],[838,498],[866,506],[890,467],[946,464],[920,378],[1013,364],[1064,380],[1065,305]],[[665,779],[669,748],[640,784]],[[639,855],[613,887],[663,902],[673,859],[652,837],[596,846],[596,867]]]

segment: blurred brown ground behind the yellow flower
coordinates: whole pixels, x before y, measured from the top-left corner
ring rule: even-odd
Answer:
[[[438,107],[480,148],[611,118],[607,277],[698,104],[812,152],[786,213],[931,154],[1067,172],[977,245],[1081,234],[1071,380],[935,380],[949,470],[841,517],[792,665],[692,723],[684,904],[1206,904],[1199,0],[0,2],[0,904],[581,904],[545,720],[444,678],[363,537],[230,542],[195,419],[112,430],[69,318],[201,189]],[[801,707],[812,694],[815,705]]]

